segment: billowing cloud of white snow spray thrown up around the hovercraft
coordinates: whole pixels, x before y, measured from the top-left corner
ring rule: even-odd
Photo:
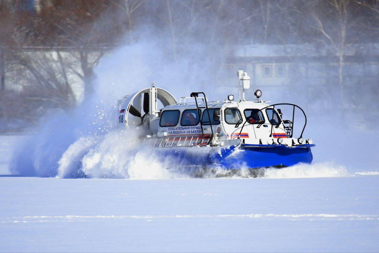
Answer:
[[[236,94],[238,87],[230,83],[228,89],[220,88],[215,82],[215,77],[224,77],[218,75],[221,72],[220,65],[216,64],[223,62],[217,58],[217,55],[223,55],[220,52],[222,48],[220,51],[209,51],[206,46],[193,45],[172,60],[165,54],[169,45],[163,44],[159,40],[138,41],[104,57],[94,70],[96,80],[92,97],[75,109],[54,111],[42,118],[39,127],[31,131],[30,138],[20,144],[13,154],[11,172],[21,176],[64,178],[183,177],[178,167],[167,169],[168,161],[158,162],[151,150],[139,146],[136,142],[137,132],[116,128],[117,99],[148,87],[151,81],[155,81],[157,87],[169,90],[175,97],[201,90],[210,100]],[[215,57],[207,57],[209,54]],[[212,60],[207,61],[205,57]],[[230,77],[235,77],[235,70],[231,71]],[[302,97],[296,95],[301,90],[294,89],[293,94],[283,96],[272,91],[265,93],[264,84],[259,84],[259,87],[254,85],[254,88],[263,90],[263,98],[277,103],[296,103],[296,99]],[[326,101],[329,98],[330,101]],[[309,117],[305,134],[313,138],[316,144],[312,150],[315,164],[281,170],[266,169],[265,177],[346,176],[348,170],[351,173],[377,170],[377,157],[372,155],[378,141],[377,135],[373,136],[372,131],[359,128],[359,125],[358,128],[351,128],[344,124],[336,114],[341,110],[332,107],[343,101],[333,101],[331,96],[324,100],[330,104],[330,110],[306,111]],[[302,100],[299,102],[301,106],[305,103]],[[352,141],[349,136],[356,140]],[[333,162],[341,165],[330,165]],[[247,172],[247,168],[243,169],[237,177],[247,177]],[[203,176],[225,174],[225,171],[216,169],[215,173]]]

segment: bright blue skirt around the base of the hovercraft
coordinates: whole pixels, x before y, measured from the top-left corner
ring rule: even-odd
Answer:
[[[264,168],[312,163],[311,147],[300,145],[250,145],[229,147],[172,147],[160,148],[160,157],[179,166],[205,166],[222,169]]]

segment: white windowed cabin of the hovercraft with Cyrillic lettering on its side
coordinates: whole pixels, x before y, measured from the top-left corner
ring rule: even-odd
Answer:
[[[198,105],[205,107],[205,103]],[[244,144],[300,145],[297,138],[288,138],[279,113],[273,108],[266,108],[268,106],[262,101],[217,101],[208,103],[208,109],[202,108],[196,113],[195,103],[172,104],[163,108],[161,117],[153,120],[150,127],[159,136],[189,138],[202,135],[203,131],[205,136],[216,134],[217,145],[220,146],[230,144],[230,140]],[[260,111],[263,108],[266,109]],[[282,143],[278,142],[279,138],[282,138]]]

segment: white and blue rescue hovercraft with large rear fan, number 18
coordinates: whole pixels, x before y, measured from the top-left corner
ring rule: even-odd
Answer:
[[[250,78],[242,70],[237,74],[237,101],[233,95],[208,101],[204,92],[192,92],[178,102],[152,82],[150,88],[118,100],[117,124],[143,129],[139,138],[143,145],[159,150],[162,159],[183,168],[231,171],[311,163],[315,145],[312,139],[303,138],[307,124],[303,109],[290,103],[268,104],[260,99],[261,90],[255,91],[255,101],[247,101]],[[296,119],[298,136],[294,133],[295,111],[302,117]],[[283,115],[289,119],[283,120]]]

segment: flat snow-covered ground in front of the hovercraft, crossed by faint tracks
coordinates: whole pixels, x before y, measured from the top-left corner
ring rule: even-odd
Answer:
[[[20,139],[0,136],[2,174]],[[0,251],[379,251],[378,172],[322,166],[257,179],[2,176]]]

